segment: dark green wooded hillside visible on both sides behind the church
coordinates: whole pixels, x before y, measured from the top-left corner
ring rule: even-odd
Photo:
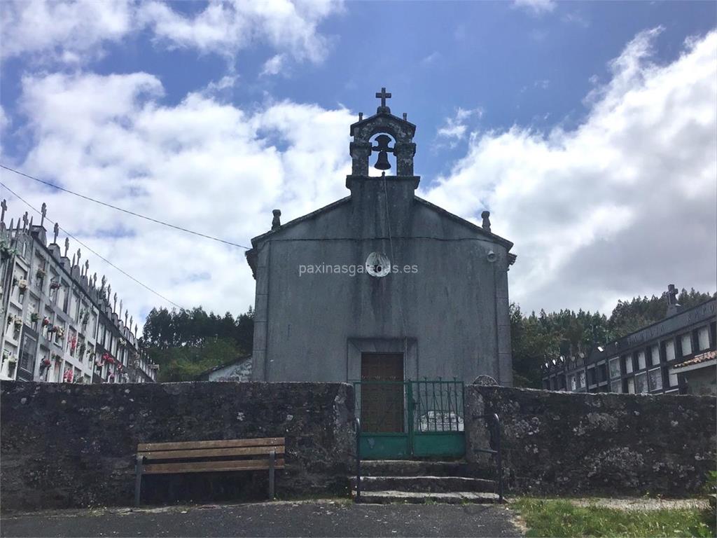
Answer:
[[[678,296],[689,308],[711,296],[690,290]],[[599,312],[561,310],[531,313],[511,305],[513,372],[518,387],[541,386],[541,364],[548,359],[587,353],[594,344],[637,331],[660,321],[668,308],[667,293],[618,301],[609,317]],[[254,312],[250,307],[234,317],[206,313],[203,308],[168,311],[153,308],[144,325],[144,344],[160,365],[159,381],[190,381],[206,369],[232,362],[252,352]]]

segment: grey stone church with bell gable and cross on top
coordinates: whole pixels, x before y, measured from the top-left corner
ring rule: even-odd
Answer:
[[[255,381],[513,382],[513,243],[488,212],[478,226],[417,197],[416,126],[389,97],[350,127],[348,196],[285,224],[275,210],[252,239]]]

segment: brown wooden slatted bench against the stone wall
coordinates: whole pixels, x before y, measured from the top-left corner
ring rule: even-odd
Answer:
[[[284,468],[284,438],[140,443],[137,445],[135,506],[140,503],[146,474],[216,473],[269,470],[269,496],[274,499],[274,470]]]

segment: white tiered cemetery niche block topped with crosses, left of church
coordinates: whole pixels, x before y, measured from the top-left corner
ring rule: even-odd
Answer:
[[[39,225],[27,212],[5,224],[0,206],[0,379],[70,383],[154,382],[158,367],[146,359],[137,324],[117,313],[117,293],[81,252],[68,258],[54,238],[47,244],[44,212]]]

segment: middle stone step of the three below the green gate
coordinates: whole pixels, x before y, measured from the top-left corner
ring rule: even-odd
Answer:
[[[356,477],[351,478],[351,488],[356,489]],[[484,478],[463,476],[362,476],[361,493],[364,491],[414,491],[423,493],[451,493],[474,491],[494,493],[495,482]]]

